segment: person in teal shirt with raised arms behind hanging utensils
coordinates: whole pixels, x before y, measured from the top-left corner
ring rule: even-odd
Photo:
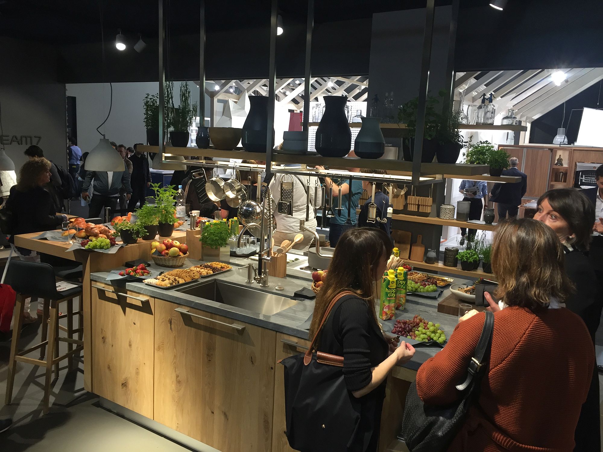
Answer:
[[[324,169],[322,166],[317,166],[318,169]],[[354,168],[355,169],[355,168]],[[352,171],[354,170],[352,169]],[[356,169],[356,172],[358,169]],[[330,177],[324,178],[324,183],[329,190],[330,184],[333,184],[333,206],[339,206],[339,188],[341,185],[341,213],[337,209],[332,209],[333,216],[330,219],[329,225],[329,242],[332,248],[335,248],[339,237],[349,227],[356,227],[358,219],[356,218],[356,209],[358,209],[360,203],[360,197],[362,196],[362,181],[352,180],[352,187],[350,189],[349,179],[331,179]],[[352,226],[346,225],[348,206],[350,210],[350,220]]]

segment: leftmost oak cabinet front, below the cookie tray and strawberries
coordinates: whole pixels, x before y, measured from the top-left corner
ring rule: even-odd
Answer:
[[[151,419],[154,309],[154,298],[92,281],[93,391]]]

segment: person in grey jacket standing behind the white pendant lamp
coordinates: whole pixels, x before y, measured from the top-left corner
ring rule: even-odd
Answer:
[[[127,199],[130,199],[132,195],[130,172],[125,168],[125,163],[124,171],[87,171],[86,180],[84,180],[84,185],[81,187],[81,198],[86,201],[90,198],[88,189],[92,180],[94,180],[94,188],[92,199],[90,199],[88,218],[101,218],[103,207],[109,207],[114,212],[119,202],[119,189],[121,187],[125,188]]]

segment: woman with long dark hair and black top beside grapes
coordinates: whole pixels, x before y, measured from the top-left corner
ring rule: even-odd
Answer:
[[[353,452],[377,450],[385,378],[393,366],[414,355],[411,345],[402,342],[396,348],[385,339],[377,321],[373,284],[384,274],[391,250],[384,231],[357,228],[344,232],[333,253],[329,276],[318,293],[310,326],[310,337],[314,337],[330,301],[346,290],[355,293],[335,304],[317,341],[318,351],[344,357],[350,397],[359,401],[360,423],[349,448]]]

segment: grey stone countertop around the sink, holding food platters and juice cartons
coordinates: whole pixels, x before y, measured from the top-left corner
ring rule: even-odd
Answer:
[[[309,288],[311,286],[311,274],[308,271],[298,269],[300,266],[307,265],[307,263],[301,262],[299,265],[289,268],[288,277],[286,278],[269,277],[268,281],[270,286],[260,287],[259,284],[256,283],[245,283],[245,280],[247,279],[247,269],[245,268],[245,265],[248,262],[250,262],[248,259],[231,258],[230,265],[233,267],[232,270],[212,277],[201,278],[201,280],[187,284],[187,286],[183,287],[194,287],[196,284],[203,284],[208,280],[215,279],[219,281],[226,281],[230,284],[236,284],[237,286],[248,287],[249,289],[273,293],[274,295],[279,295],[281,297],[294,298],[295,300],[298,300],[297,304],[277,312],[274,315],[264,315],[236,306],[205,300],[204,298],[178,292],[178,290],[175,289],[159,289],[148,284],[125,280],[106,281],[109,272],[96,272],[91,274],[90,278],[93,281],[110,284],[115,287],[125,287],[133,292],[143,293],[160,300],[170,301],[172,303],[188,306],[193,309],[203,310],[205,312],[214,313],[241,322],[247,322],[248,324],[257,325],[259,327],[279,331],[280,333],[300,337],[301,339],[308,339],[308,330],[306,328],[309,328],[309,320],[311,319],[312,311],[314,310],[314,300],[297,298],[294,295],[294,292],[297,290],[302,289],[303,287]],[[184,266],[186,268],[188,266],[198,265],[199,263],[201,262],[187,259]],[[254,262],[254,266],[256,265],[257,261]],[[156,266],[152,267],[154,269],[159,268],[169,271],[168,268]],[[123,268],[119,269],[121,270]],[[467,278],[455,278],[455,283],[458,284],[465,283],[466,281],[468,281]],[[276,290],[276,286],[283,287],[283,290]],[[398,310],[396,312],[396,319],[411,319],[414,315],[420,315],[426,321],[439,323],[441,325],[440,328],[446,333],[446,337],[449,337],[458,322],[457,318],[456,316],[438,312],[437,307],[438,302],[444,300],[444,298],[449,295],[449,287],[450,286],[447,286],[446,289],[443,290],[437,300],[415,295],[408,295],[405,309]],[[390,321],[380,320],[384,331],[390,334],[394,322],[395,319]],[[404,366],[409,369],[417,370],[421,363],[434,356],[439,350],[441,350],[440,347],[421,347],[421,345],[419,345],[412,360],[406,363]]]

